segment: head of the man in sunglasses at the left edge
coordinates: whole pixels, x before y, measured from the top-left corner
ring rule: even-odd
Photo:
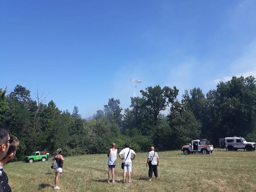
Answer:
[[[0,160],[6,155],[10,143],[12,143],[12,139],[13,138],[9,136],[6,125],[0,124]]]

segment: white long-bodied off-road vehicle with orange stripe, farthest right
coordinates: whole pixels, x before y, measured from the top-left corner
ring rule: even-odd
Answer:
[[[220,147],[229,151],[237,151],[237,149],[246,149],[246,151],[255,151],[256,144],[247,142],[243,137],[225,137],[220,139]]]

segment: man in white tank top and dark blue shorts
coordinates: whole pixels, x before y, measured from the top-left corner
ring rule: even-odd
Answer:
[[[112,144],[112,148],[108,149],[108,183],[112,171],[112,183],[115,183],[115,166],[116,166],[116,144]]]

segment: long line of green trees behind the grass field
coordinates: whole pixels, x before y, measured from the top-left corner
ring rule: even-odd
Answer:
[[[256,140],[256,81],[253,76],[233,76],[204,95],[194,88],[177,99],[176,86],[147,87],[142,97],[131,97],[123,114],[120,100],[111,98],[92,120],[85,120],[75,106],[73,113],[60,110],[46,96],[17,85],[12,92],[0,89],[0,123],[20,140],[16,160],[36,150],[65,155],[106,153],[111,143],[123,148],[131,143],[135,151],[181,149],[195,138],[206,138],[214,147],[219,138],[242,136]],[[162,115],[167,111],[167,115]],[[28,154],[29,153],[29,154]]]

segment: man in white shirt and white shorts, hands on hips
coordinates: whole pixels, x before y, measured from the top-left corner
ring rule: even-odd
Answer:
[[[125,143],[125,148],[118,154],[120,159],[123,159],[124,173],[123,183],[125,183],[126,172],[128,171],[128,183],[131,183],[131,172],[132,172],[132,160],[135,158],[136,153],[129,148],[129,143]],[[123,157],[121,157],[123,155]],[[132,157],[133,155],[133,157]]]

